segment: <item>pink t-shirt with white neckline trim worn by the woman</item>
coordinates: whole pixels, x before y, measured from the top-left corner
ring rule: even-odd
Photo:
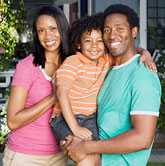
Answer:
[[[28,91],[25,107],[30,107],[52,93],[52,83],[39,66],[33,65],[33,56],[21,60],[13,76],[12,86],[21,86]],[[8,137],[11,150],[36,155],[59,152],[59,147],[51,131],[49,119],[52,108],[34,122],[13,130]]]

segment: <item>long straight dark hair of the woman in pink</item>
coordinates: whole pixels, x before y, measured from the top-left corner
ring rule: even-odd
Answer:
[[[63,11],[55,5],[44,6],[40,8],[39,11],[37,12],[35,20],[33,22],[33,42],[34,42],[33,63],[35,65],[41,65],[44,68],[45,67],[45,49],[39,41],[37,28],[36,28],[37,20],[42,15],[51,16],[56,20],[58,31],[61,36],[61,45],[60,45],[61,63],[69,55],[69,46],[68,46],[69,25]]]

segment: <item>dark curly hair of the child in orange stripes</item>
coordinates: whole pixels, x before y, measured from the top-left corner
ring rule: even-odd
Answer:
[[[92,30],[102,31],[103,14],[98,13],[92,16],[86,16],[73,22],[69,33],[70,54],[75,54],[79,51],[78,45],[81,42],[81,37],[84,32]]]

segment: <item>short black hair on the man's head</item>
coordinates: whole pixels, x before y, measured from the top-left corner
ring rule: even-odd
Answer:
[[[128,7],[126,5],[122,5],[122,4],[110,5],[104,11],[104,20],[106,19],[107,16],[114,14],[114,13],[119,13],[119,14],[125,15],[127,17],[130,27],[131,28],[138,27],[138,29],[139,29],[139,17],[137,15],[137,13],[130,7]]]

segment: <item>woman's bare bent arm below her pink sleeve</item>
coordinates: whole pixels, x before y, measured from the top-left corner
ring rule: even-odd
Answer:
[[[54,95],[50,95],[35,105],[25,108],[27,95],[28,91],[25,88],[20,86],[11,87],[11,94],[7,108],[7,122],[8,127],[11,130],[15,130],[33,122],[46,112],[55,102]]]

